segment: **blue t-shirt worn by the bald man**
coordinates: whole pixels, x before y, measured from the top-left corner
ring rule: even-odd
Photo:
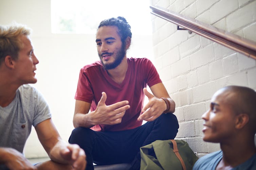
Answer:
[[[193,170],[215,170],[222,159],[222,151],[209,153],[195,163]],[[244,163],[232,168],[231,170],[256,170],[256,153]]]

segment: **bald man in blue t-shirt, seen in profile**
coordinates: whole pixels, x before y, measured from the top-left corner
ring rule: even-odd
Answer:
[[[204,120],[203,140],[220,143],[220,151],[201,157],[193,170],[256,169],[256,92],[227,86],[212,97]]]

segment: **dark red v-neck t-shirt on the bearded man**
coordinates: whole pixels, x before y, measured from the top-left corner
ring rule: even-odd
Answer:
[[[141,126],[137,118],[143,108],[143,88],[162,82],[156,68],[147,58],[127,58],[128,70],[121,84],[110,78],[102,64],[97,61],[80,70],[76,100],[91,103],[91,111],[96,110],[102,92],[107,94],[106,105],[128,100],[130,108],[126,110],[122,122],[115,125],[95,125],[96,131],[121,131]]]

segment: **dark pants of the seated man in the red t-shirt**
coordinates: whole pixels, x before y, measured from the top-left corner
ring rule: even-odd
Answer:
[[[69,143],[78,144],[85,150],[86,170],[93,170],[93,163],[109,165],[132,163],[133,169],[140,168],[140,147],[156,140],[174,139],[179,124],[175,115],[162,114],[152,122],[124,131],[93,131],[89,128],[75,128]]]

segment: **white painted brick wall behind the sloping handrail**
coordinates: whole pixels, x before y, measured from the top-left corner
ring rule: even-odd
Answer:
[[[151,0],[187,17],[256,41],[255,0]],[[170,96],[176,102],[177,138],[204,155],[219,150],[219,144],[202,140],[202,114],[209,100],[227,85],[256,90],[256,60],[209,41],[195,33],[177,31],[177,26],[152,16],[156,67]]]

